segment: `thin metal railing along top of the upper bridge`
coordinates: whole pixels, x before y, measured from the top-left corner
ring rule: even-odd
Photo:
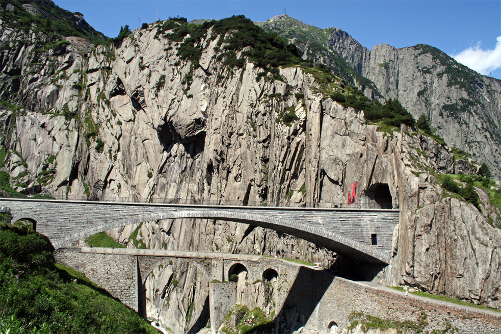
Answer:
[[[142,198],[142,197],[113,197],[113,196],[60,196],[24,195],[0,196],[0,198],[25,198],[25,199],[58,199],[71,201],[99,201],[99,202],[131,202],[131,203],[153,203],[153,204],[193,204],[193,205],[234,205],[244,207],[291,207],[291,208],[339,208],[339,209],[398,209],[398,205],[393,203],[334,203],[334,202],[291,202],[287,200],[276,201],[253,201],[253,200],[228,200],[228,199],[205,199],[205,198]]]

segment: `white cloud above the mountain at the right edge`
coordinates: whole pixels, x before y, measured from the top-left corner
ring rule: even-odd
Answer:
[[[501,68],[501,36],[497,37],[496,47],[493,50],[483,50],[478,42],[476,46],[469,47],[452,57],[472,70],[488,75],[491,71]]]

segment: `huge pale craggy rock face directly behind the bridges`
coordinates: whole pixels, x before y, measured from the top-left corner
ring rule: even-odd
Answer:
[[[181,52],[191,35],[173,40],[178,30],[165,29],[169,22],[88,53],[36,27],[1,23],[2,170],[17,191],[305,205],[345,203],[357,182],[357,203],[384,200],[401,209],[393,260],[377,279],[501,306],[501,232],[492,226],[499,210],[485,193],[481,213],[437,181],[471,171],[471,160],[455,160],[452,149],[416,129],[366,124],[362,110],[319,90],[326,84],[314,70],[263,74],[246,49],[234,55],[243,65],[229,66],[221,49],[233,32],[210,24],[190,40],[200,55],[193,61]],[[340,81],[330,76],[330,84]],[[128,247],[279,255],[341,272],[352,266],[291,236],[224,221],[145,222],[110,234]],[[195,269],[181,272],[187,291],[172,295],[183,311],[171,326],[188,330],[202,312],[198,306],[187,317],[189,305],[204,300],[206,286]],[[154,275],[163,278],[151,290],[161,293],[172,277]],[[152,314],[177,314],[154,296]]]

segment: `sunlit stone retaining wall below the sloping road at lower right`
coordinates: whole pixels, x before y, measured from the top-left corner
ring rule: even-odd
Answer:
[[[322,277],[324,276],[324,277]],[[298,282],[301,285],[318,284],[319,279],[330,278],[319,273],[311,279]],[[302,277],[305,278],[305,277]],[[306,300],[306,299],[305,299]],[[483,312],[474,312],[461,307],[422,301],[411,296],[382,291],[344,278],[335,277],[324,293],[320,302],[308,319],[305,328],[314,328],[329,332],[328,325],[335,321],[340,328],[348,325],[352,312],[363,312],[382,319],[417,323],[421,312],[426,313],[428,330],[443,330],[446,322],[458,328],[459,333],[499,334],[501,333],[501,315],[491,316]]]

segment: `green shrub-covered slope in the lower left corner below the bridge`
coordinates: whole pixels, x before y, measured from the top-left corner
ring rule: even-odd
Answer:
[[[0,332],[157,333],[102,289],[79,282],[50,260],[42,235],[0,225]]]

